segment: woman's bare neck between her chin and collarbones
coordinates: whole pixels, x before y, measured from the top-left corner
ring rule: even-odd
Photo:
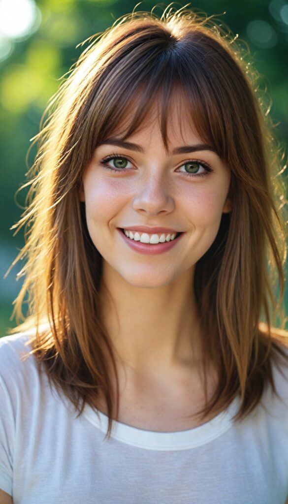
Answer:
[[[194,269],[168,285],[135,287],[103,264],[100,312],[116,358],[141,375],[201,360]]]

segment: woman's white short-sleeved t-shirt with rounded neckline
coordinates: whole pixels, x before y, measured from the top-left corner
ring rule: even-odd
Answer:
[[[288,369],[273,368],[283,401],[235,423],[239,399],[179,432],[113,423],[51,392],[27,335],[0,339],[0,488],[14,504],[284,504],[288,497]]]

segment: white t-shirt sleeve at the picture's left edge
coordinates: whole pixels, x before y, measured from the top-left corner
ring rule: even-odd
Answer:
[[[14,415],[6,384],[0,376],[0,488],[12,495]]]

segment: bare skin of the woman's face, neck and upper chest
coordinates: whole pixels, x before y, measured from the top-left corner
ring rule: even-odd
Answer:
[[[117,132],[111,136],[120,138]],[[231,171],[215,152],[172,154],[180,146],[203,144],[187,119],[185,103],[180,108],[179,102],[171,104],[168,139],[166,152],[157,114],[151,113],[126,139],[143,152],[110,143],[98,146],[80,195],[91,239],[103,258],[101,313],[117,355],[119,421],[160,431],[199,425],[199,419],[188,418],[204,406],[194,271],[216,237],[222,213],[231,210]],[[111,154],[128,160],[121,173],[100,163]],[[201,161],[212,171],[189,176],[185,163],[190,160],[200,163],[199,173],[207,173]],[[115,167],[113,160],[107,164]],[[166,253],[143,255],[119,235],[117,228],[129,225],[185,234]],[[211,365],[209,395],[216,381]],[[104,404],[99,409],[106,413]]]

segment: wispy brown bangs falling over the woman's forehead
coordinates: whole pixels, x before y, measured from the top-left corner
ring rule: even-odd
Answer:
[[[138,50],[136,59],[130,54],[118,64],[113,62],[102,83],[105,107],[100,128],[93,136],[92,151],[111,135],[127,139],[143,127],[150,115],[158,117],[168,150],[167,123],[175,120],[171,115],[173,108],[178,112],[179,124],[184,120],[194,124],[201,140],[211,145],[221,159],[227,159],[223,125],[231,124],[231,120],[225,120],[223,110],[229,113],[231,102],[208,58],[207,61],[200,58],[199,48],[198,52],[190,50],[185,54],[185,51],[184,46],[178,49],[177,45],[171,48],[158,44],[144,54]],[[93,108],[96,115],[96,103]]]

